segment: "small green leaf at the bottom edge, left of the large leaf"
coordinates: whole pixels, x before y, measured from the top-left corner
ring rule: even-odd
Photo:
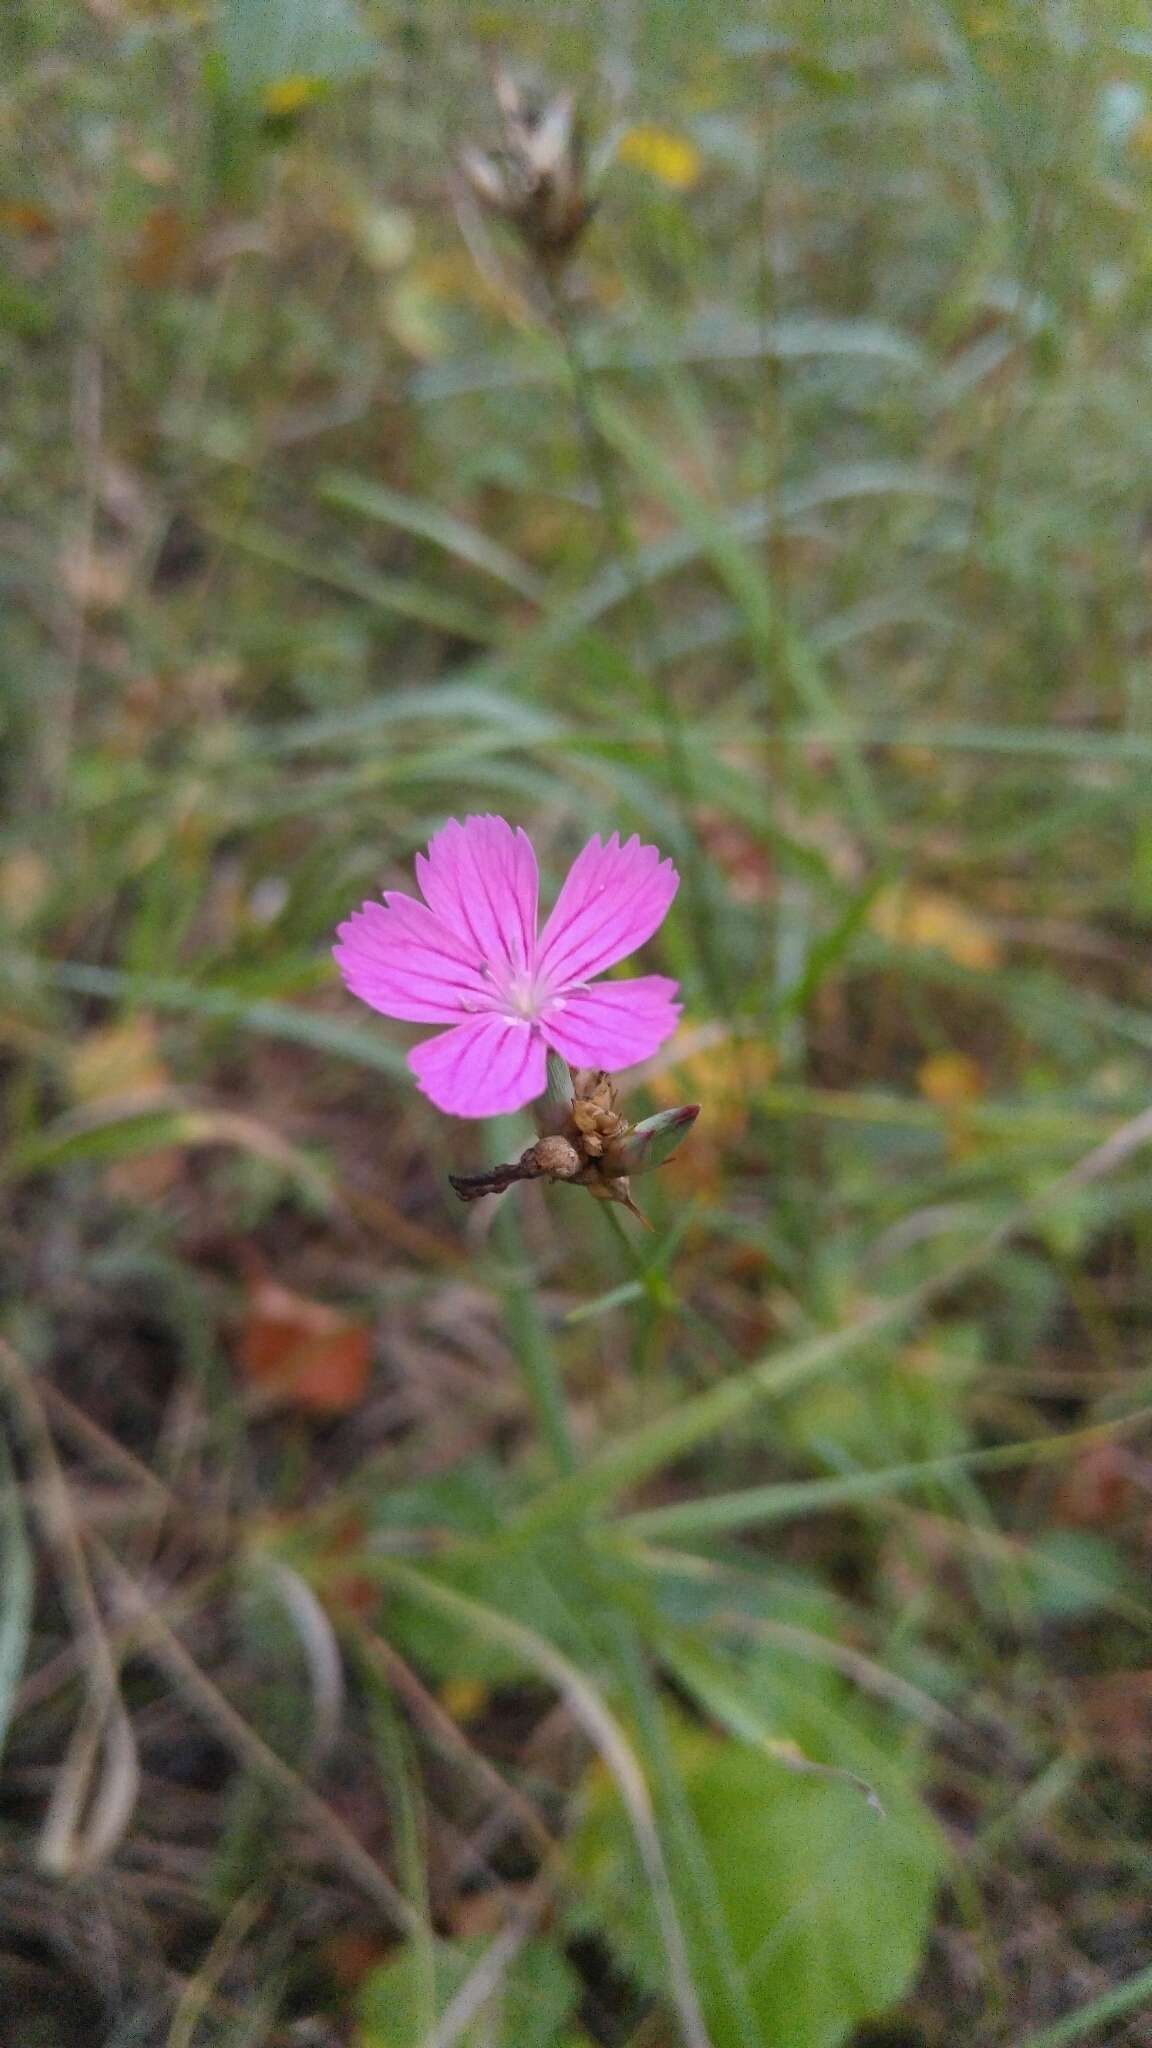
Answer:
[[[359,2048],[424,2048],[488,1954],[486,1942],[435,1942],[426,1952],[408,1946],[381,1964],[361,1987]],[[580,1995],[560,1950],[527,1942],[492,1974],[490,1997],[480,1999],[471,2023],[453,2040],[461,2048],[556,2048]]]

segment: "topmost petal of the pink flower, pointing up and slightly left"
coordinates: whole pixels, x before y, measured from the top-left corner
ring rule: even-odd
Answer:
[[[416,854],[428,907],[496,971],[529,969],[535,952],[539,874],[531,840],[504,817],[449,817]]]

